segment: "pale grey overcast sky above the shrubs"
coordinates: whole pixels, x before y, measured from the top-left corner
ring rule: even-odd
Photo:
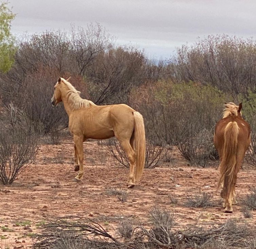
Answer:
[[[214,34],[256,37],[256,1],[246,0],[9,0],[12,32],[68,31],[99,22],[117,44],[169,58],[176,47]]]

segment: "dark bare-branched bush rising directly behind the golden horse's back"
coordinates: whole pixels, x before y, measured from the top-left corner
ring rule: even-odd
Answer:
[[[95,104],[128,103],[129,93],[148,77],[142,51],[109,47],[86,70],[89,95]]]

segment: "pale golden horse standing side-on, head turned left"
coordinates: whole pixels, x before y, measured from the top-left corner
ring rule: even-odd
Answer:
[[[145,164],[146,141],[142,115],[125,104],[98,106],[82,99],[80,92],[68,82],[69,79],[59,77],[51,102],[56,106],[62,101],[69,116],[69,130],[75,143],[75,171],[78,171],[79,165],[74,181],[81,181],[84,175],[83,142],[89,138],[116,137],[130,162],[128,187],[134,187],[135,180],[141,178]]]

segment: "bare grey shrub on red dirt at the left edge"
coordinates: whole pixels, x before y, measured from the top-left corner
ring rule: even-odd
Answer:
[[[0,124],[0,181],[12,184],[33,163],[39,138],[21,110],[10,105],[6,112]]]

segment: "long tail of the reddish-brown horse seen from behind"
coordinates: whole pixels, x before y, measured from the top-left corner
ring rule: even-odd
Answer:
[[[234,171],[236,168],[237,138],[239,127],[237,122],[229,122],[224,130],[224,146],[220,163],[219,186],[223,183],[222,198],[229,198]]]

